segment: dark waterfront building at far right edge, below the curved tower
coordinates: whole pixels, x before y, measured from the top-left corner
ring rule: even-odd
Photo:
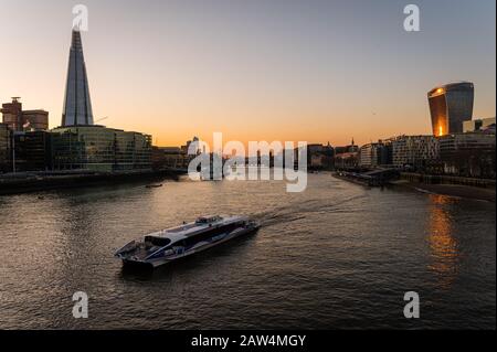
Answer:
[[[440,138],[444,173],[495,179],[495,134],[459,134]]]

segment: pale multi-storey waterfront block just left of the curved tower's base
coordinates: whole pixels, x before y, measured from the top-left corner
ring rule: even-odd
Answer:
[[[401,136],[392,139],[392,161],[398,168],[423,170],[438,160],[438,139],[434,136]]]

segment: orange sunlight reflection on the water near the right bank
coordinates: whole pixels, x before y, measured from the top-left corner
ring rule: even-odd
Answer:
[[[457,276],[457,241],[452,235],[451,206],[457,202],[445,195],[432,194],[430,209],[430,234],[432,263],[429,268],[434,271],[440,285],[447,288]]]

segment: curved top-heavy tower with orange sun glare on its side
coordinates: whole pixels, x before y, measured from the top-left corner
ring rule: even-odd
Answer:
[[[473,83],[459,82],[429,92],[433,136],[463,132],[463,121],[473,118],[475,89]]]

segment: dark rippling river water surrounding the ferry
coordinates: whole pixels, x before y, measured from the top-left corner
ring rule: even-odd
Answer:
[[[42,198],[40,199],[40,195]],[[205,214],[263,227],[155,271],[130,239]],[[496,207],[310,174],[0,196],[0,329],[456,329],[496,327]],[[89,296],[73,318],[72,296]],[[421,318],[404,318],[416,291]]]

